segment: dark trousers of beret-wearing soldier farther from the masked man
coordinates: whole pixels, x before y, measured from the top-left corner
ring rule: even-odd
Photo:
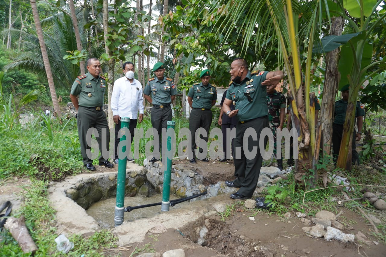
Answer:
[[[191,134],[191,144],[192,144],[192,152],[193,152],[193,159],[196,159],[196,153],[195,149],[197,147],[195,135],[196,130],[198,128],[203,128],[207,132],[207,137],[203,137],[200,135],[200,138],[205,140],[207,142],[206,145],[203,145],[202,147],[206,147],[208,149],[208,136],[209,136],[209,129],[210,125],[212,125],[212,118],[213,113],[212,110],[201,110],[201,109],[192,109],[189,116],[189,130]],[[199,146],[198,151],[203,152],[204,149]]]

